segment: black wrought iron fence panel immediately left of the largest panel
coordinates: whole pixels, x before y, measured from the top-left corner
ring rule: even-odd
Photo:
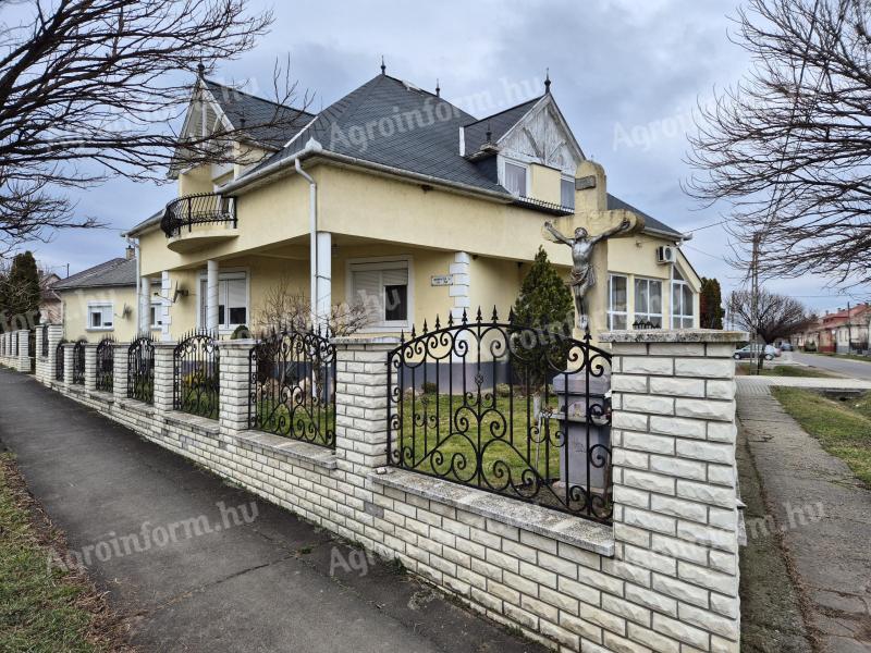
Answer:
[[[250,353],[248,426],[335,446],[335,347],[320,332],[289,331]]]

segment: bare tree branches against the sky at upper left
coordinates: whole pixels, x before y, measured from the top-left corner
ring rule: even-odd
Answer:
[[[270,11],[250,14],[245,0],[30,0],[14,9],[23,22],[0,22],[7,248],[59,227],[96,226],[72,215],[66,188],[116,175],[165,181],[179,153],[188,165],[224,162],[238,156],[229,141],[298,122],[289,109],[295,84],[277,65],[274,115],[194,137],[173,127],[192,101],[191,74],[252,49],[272,23]]]

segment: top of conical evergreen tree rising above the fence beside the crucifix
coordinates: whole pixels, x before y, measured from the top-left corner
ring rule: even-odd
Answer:
[[[515,323],[543,329],[567,322],[571,329],[574,309],[575,303],[566,283],[548,260],[544,248],[539,247],[514,304]]]

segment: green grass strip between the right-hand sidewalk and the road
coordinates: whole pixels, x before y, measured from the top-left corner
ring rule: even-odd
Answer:
[[[826,452],[871,486],[871,393],[838,402],[794,387],[772,387],[771,392]]]

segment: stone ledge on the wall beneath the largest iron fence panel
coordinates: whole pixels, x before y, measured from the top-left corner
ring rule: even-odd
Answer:
[[[369,475],[369,480],[585,551],[614,556],[614,530],[604,523],[404,469],[381,467]]]

